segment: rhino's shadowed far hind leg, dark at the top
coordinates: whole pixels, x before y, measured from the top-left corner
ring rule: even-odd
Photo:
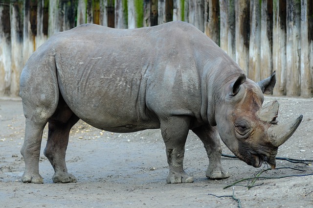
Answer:
[[[54,183],[75,183],[76,178],[67,172],[65,162],[68,136],[71,127],[79,118],[69,109],[62,96],[54,115],[48,121],[48,139],[44,154],[50,161]]]

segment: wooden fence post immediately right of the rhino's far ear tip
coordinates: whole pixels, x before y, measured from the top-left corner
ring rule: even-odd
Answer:
[[[273,70],[276,71],[276,85],[273,95],[286,95],[286,1],[273,1]]]

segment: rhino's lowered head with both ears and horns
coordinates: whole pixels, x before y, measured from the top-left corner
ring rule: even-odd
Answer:
[[[215,122],[226,146],[242,161],[254,167],[267,162],[275,168],[278,147],[291,137],[302,115],[287,124],[276,121],[278,101],[263,105],[263,93],[272,92],[275,72],[258,83],[241,74],[226,87],[222,104],[215,107]]]

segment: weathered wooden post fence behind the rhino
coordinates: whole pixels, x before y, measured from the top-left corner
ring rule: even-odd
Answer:
[[[56,32],[83,23],[115,28],[185,21],[273,95],[313,97],[312,0],[0,0],[0,96],[18,96],[29,56]]]

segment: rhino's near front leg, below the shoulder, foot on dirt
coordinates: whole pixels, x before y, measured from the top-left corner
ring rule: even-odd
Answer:
[[[190,118],[172,116],[161,121],[160,129],[166,147],[167,162],[170,168],[166,179],[168,184],[192,183],[193,177],[183,169],[185,143],[189,131]]]

